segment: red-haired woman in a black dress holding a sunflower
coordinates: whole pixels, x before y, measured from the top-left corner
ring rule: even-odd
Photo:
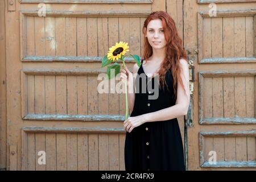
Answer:
[[[135,77],[139,84],[133,86],[133,73],[127,68],[121,69],[121,80],[137,90],[128,95],[132,112],[123,123],[127,131],[125,168],[127,171],[184,170],[183,143],[177,117],[187,114],[189,106],[187,55],[174,20],[164,11],[148,16],[143,35],[144,59],[141,67],[134,65],[133,73],[144,74],[147,84],[159,82],[159,95],[156,99],[148,99],[154,93],[148,89],[142,93],[137,88],[142,86],[140,77]],[[159,77],[150,77],[150,73],[158,73]]]

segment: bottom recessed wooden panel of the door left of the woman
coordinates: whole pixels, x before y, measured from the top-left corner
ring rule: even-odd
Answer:
[[[97,130],[90,134],[86,130],[59,133],[52,129],[32,133],[34,130],[22,130],[26,143],[23,170],[125,170],[123,134]],[[38,151],[46,151],[46,165],[38,164]]]

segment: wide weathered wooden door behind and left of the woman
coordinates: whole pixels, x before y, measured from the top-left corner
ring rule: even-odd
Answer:
[[[101,58],[119,40],[141,56],[141,28],[152,11],[167,10],[182,36],[180,1],[5,0],[5,5],[7,169],[125,169],[125,97],[98,94],[97,76],[106,73]]]

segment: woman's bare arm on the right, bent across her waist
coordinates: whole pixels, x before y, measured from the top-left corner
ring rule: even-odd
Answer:
[[[142,121],[154,122],[154,121],[166,121],[185,115],[188,112],[190,94],[189,94],[189,70],[188,63],[184,59],[180,59],[181,65],[181,79],[183,81],[185,92],[180,84],[177,83],[177,101],[176,105],[167,107],[162,110],[158,110],[152,113],[143,114]]]

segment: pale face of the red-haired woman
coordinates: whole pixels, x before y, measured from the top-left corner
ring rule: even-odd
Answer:
[[[162,20],[154,19],[148,23],[146,37],[152,48],[162,49],[166,47],[167,41],[164,38]]]

